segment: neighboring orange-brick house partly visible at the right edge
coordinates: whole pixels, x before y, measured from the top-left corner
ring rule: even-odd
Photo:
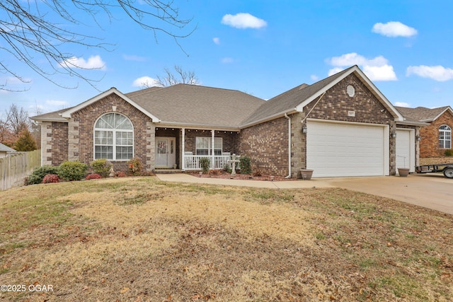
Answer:
[[[453,148],[453,110],[451,107],[396,108],[404,117],[428,123],[428,126],[420,129],[420,157],[445,156],[445,150]]]

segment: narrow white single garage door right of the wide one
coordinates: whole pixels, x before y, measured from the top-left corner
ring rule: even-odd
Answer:
[[[415,172],[415,132],[413,129],[396,129],[396,171],[410,168]]]

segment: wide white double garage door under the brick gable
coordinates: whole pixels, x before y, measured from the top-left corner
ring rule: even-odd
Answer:
[[[389,175],[388,129],[309,120],[306,166],[314,177]]]

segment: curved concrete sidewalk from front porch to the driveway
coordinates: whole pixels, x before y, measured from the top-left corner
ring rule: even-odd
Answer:
[[[156,174],[162,181],[204,183],[209,185],[234,185],[239,187],[267,187],[271,189],[300,189],[304,187],[334,187],[326,180],[292,180],[292,181],[264,181],[264,180],[229,180],[222,178],[197,178],[184,173]]]

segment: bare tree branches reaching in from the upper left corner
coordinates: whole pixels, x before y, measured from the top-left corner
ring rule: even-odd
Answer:
[[[74,13],[74,10],[85,13],[88,18]],[[157,40],[157,33],[164,33],[178,39],[187,37],[193,30],[183,30],[192,21],[191,18],[180,18],[173,0],[40,0],[20,1],[1,0],[0,11],[0,57],[11,54],[18,62],[23,62],[45,79],[62,86],[57,82],[58,74],[68,74],[94,85],[96,80],[84,76],[81,66],[74,63],[74,54],[64,52],[67,46],[97,47],[107,49],[112,45],[103,42],[101,37],[93,37],[70,30],[68,23],[91,26],[98,23],[98,14],[105,13],[110,22],[119,10],[145,30],[151,30]],[[89,23],[91,21],[91,24]],[[64,47],[63,47],[64,46]],[[180,46],[180,45],[179,45]],[[182,48],[181,48],[182,49]],[[72,59],[72,60],[71,60]],[[44,60],[45,65],[38,62]],[[8,61],[0,59],[0,72],[12,76],[22,83],[28,80],[9,66]],[[0,89],[11,90],[8,82],[0,83]]]

